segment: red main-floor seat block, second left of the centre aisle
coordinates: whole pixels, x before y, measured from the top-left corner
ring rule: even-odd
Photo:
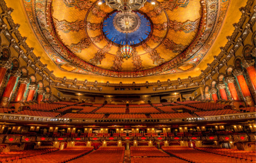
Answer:
[[[88,154],[93,147],[68,147],[66,149],[37,156],[26,157],[12,163],[61,163]],[[8,162],[9,163],[9,162]]]

